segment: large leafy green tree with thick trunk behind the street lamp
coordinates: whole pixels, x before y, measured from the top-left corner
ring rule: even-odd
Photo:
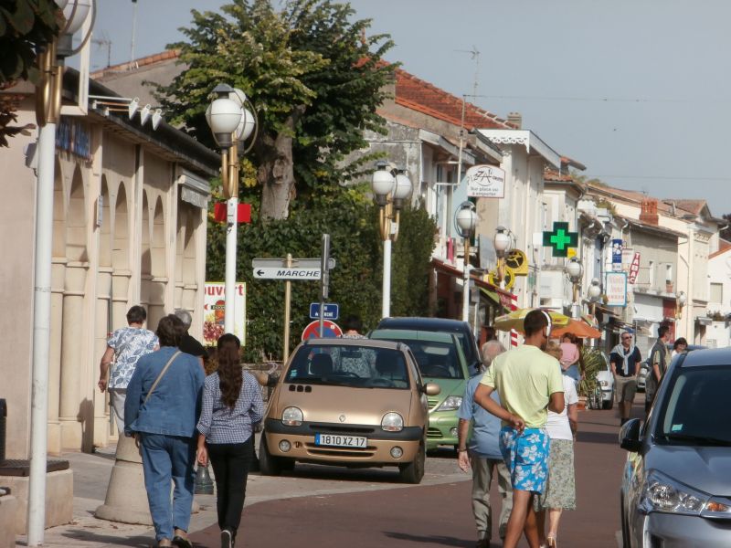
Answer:
[[[157,86],[165,110],[214,147],[210,90],[227,82],[247,93],[260,118],[250,162],[263,221],[286,218],[295,200],[338,194],[368,160],[346,155],[367,146],[365,130],[383,132],[376,108],[393,68],[381,57],[392,42],[365,37],[370,21],[351,22],[354,10],[329,0],[291,0],[281,12],[270,0],[235,0],[221,12],[194,10],[188,41],[170,46],[187,68]]]

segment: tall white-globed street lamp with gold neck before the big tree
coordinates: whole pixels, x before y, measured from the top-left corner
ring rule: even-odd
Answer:
[[[213,132],[213,138],[221,149],[221,183],[226,203],[226,280],[224,305],[224,331],[234,332],[234,300],[236,299],[236,247],[238,232],[238,143],[241,153],[247,153],[256,140],[251,139],[249,147],[244,142],[255,132],[257,119],[253,105],[246,94],[228,84],[218,84],[213,100],[206,110],[206,121]],[[251,110],[247,108],[251,107]]]

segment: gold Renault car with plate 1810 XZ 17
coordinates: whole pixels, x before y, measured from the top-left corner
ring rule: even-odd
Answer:
[[[310,339],[285,365],[271,395],[260,441],[265,475],[296,462],[397,467],[424,476],[427,395],[414,355],[402,342]]]

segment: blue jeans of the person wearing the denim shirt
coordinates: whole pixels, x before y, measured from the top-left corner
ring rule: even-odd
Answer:
[[[194,437],[140,433],[143,456],[144,488],[155,539],[172,539],[174,529],[188,530],[193,508],[193,483],[196,473]],[[170,482],[175,483],[170,501]]]

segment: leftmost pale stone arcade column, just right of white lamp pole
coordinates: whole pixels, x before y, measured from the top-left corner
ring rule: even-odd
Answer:
[[[61,395],[61,330],[63,325],[63,293],[66,258],[51,261],[51,321],[48,351],[48,453],[61,453],[61,424],[58,406]]]

